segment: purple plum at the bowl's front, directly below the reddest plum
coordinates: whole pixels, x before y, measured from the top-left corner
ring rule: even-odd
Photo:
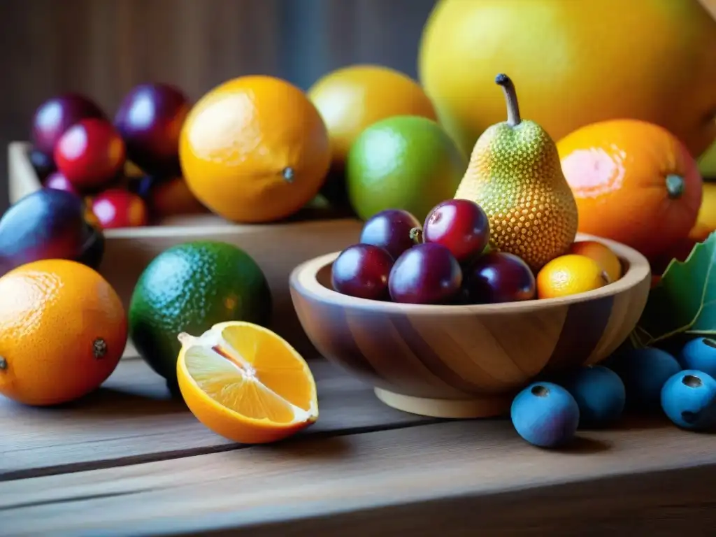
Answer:
[[[462,283],[460,263],[448,248],[435,243],[403,252],[388,277],[392,300],[408,304],[448,304]]]

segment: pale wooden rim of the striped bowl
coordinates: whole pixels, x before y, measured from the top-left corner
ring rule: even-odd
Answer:
[[[364,309],[381,311],[384,314],[411,314],[411,315],[453,315],[453,314],[516,314],[529,311],[540,311],[556,306],[569,306],[581,302],[615,296],[634,288],[651,279],[652,269],[647,258],[634,248],[623,243],[611,241],[608,238],[578,233],[576,241],[596,241],[609,246],[616,256],[628,263],[627,272],[620,279],[613,281],[599,289],[586,291],[570,296],[561,296],[552,299],[532,299],[527,301],[503,302],[500,304],[406,304],[402,302],[379,301],[349,296],[329,289],[319,283],[316,278],[319,271],[332,263],[341,253],[340,251],[326,253],[323,256],[304,261],[291,271],[289,285],[301,296],[335,306],[349,309]]]

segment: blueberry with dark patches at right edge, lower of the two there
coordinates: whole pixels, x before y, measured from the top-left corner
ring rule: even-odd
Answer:
[[[662,408],[679,427],[692,430],[716,425],[716,380],[695,369],[674,374],[662,388]]]

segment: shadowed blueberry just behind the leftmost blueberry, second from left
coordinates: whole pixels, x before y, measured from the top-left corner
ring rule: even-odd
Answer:
[[[582,367],[563,378],[561,385],[579,405],[579,425],[604,427],[616,422],[624,410],[624,382],[601,365]]]

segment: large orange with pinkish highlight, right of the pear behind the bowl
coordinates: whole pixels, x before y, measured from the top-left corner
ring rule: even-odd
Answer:
[[[594,123],[563,137],[557,149],[581,233],[651,257],[694,226],[701,175],[686,146],[663,127],[638,120]]]

